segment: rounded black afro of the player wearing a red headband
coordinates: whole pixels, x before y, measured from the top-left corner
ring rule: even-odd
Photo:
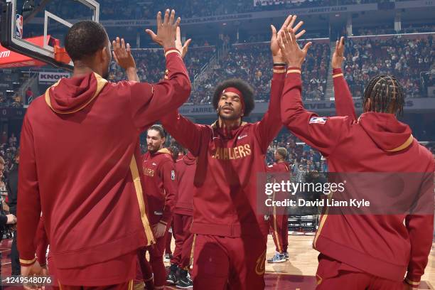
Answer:
[[[243,102],[245,102],[244,117],[249,116],[249,114],[255,107],[254,88],[247,82],[245,82],[245,80],[240,80],[239,78],[232,78],[220,82],[220,84],[216,87],[215,93],[213,95],[213,107],[215,107],[215,109],[218,109],[218,103],[220,100],[220,96],[222,95],[222,91],[225,90],[227,87],[235,87],[237,90],[240,90],[240,92],[242,92]]]

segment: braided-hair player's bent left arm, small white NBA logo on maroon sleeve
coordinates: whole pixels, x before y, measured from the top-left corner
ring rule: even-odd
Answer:
[[[346,134],[350,123],[348,117],[318,117],[304,108],[301,99],[301,66],[311,43],[304,49],[299,48],[294,32],[283,32],[279,41],[289,70],[286,75],[284,92],[281,99],[281,119],[290,131],[310,146],[328,156],[340,142],[340,136]]]

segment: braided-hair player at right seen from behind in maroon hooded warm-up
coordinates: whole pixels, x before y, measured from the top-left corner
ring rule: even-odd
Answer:
[[[281,35],[281,51],[295,68],[287,74],[281,100],[286,127],[327,156],[331,172],[421,173],[407,189],[433,195],[434,160],[396,118],[404,105],[399,82],[390,75],[372,78],[358,122],[318,117],[301,100],[301,65],[309,45],[301,50],[293,31]],[[321,252],[317,289],[417,289],[432,243],[430,203],[427,215],[323,215],[313,242]]]

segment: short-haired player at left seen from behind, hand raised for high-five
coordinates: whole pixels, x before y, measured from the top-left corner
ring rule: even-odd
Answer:
[[[33,243],[41,210],[62,289],[127,289],[137,249],[154,243],[146,215],[139,133],[190,95],[175,48],[175,11],[157,16],[153,39],[166,51],[168,78],[159,84],[109,83],[111,43],[93,21],[75,23],[65,38],[74,62],[28,107],[21,131],[18,252],[21,274],[41,272]],[[129,45],[114,43],[117,62],[135,77]]]

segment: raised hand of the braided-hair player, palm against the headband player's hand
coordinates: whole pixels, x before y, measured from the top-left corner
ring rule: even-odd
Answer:
[[[304,63],[308,48],[310,48],[311,42],[306,43],[303,49],[299,48],[299,44],[296,41],[294,30],[290,28],[286,31],[281,31],[281,38],[278,40],[281,53],[286,59],[287,65],[291,68],[301,68]]]

